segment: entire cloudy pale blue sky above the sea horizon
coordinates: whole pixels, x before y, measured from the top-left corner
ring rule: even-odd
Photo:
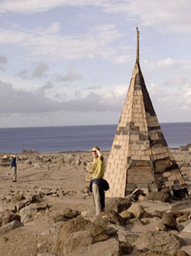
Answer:
[[[191,122],[190,13],[190,0],[0,0],[0,128],[117,124],[136,27],[159,122]]]

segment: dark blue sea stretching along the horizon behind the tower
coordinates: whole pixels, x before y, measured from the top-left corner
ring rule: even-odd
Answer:
[[[160,123],[168,146],[191,143],[191,123]],[[38,152],[89,150],[98,145],[110,149],[117,125],[51,126],[0,129],[0,152],[21,153],[23,149]]]

